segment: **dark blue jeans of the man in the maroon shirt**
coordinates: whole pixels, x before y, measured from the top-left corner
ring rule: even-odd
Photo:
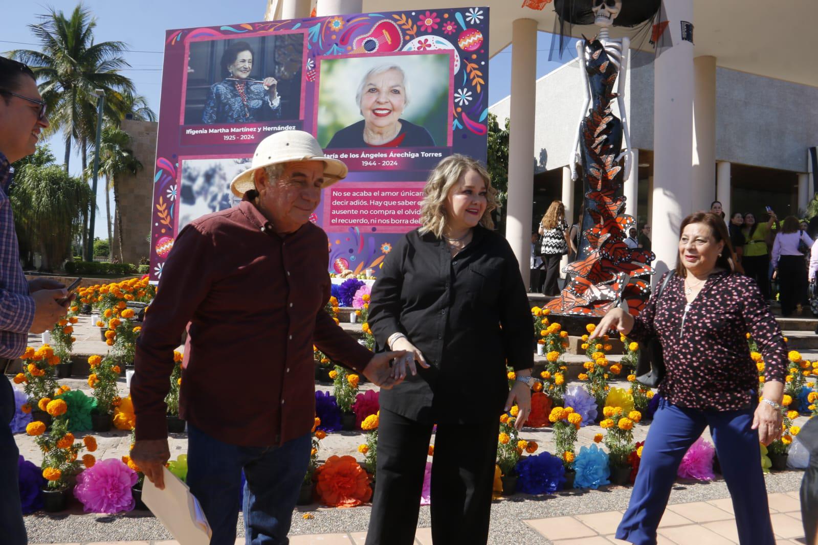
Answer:
[[[222,443],[187,422],[187,485],[213,529],[212,545],[236,543],[241,470],[247,545],[287,545],[290,520],[309,465],[312,436],[281,446]]]

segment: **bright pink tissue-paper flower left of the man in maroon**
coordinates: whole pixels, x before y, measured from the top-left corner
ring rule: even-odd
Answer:
[[[92,513],[131,511],[135,502],[131,487],[137,484],[137,472],[122,460],[108,458],[88,467],[77,476],[74,496],[83,510]]]

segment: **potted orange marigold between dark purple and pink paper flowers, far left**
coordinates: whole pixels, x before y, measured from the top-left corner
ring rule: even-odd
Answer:
[[[68,410],[64,400],[51,400],[47,404],[47,413],[53,418],[52,428],[45,433],[46,426],[41,421],[30,422],[25,428],[29,436],[34,436],[40,451],[43,453],[43,477],[47,487],[43,490],[43,503],[46,511],[65,510],[65,503],[80,467],[92,467],[96,458],[85,454],[80,462],[77,458],[83,448],[89,452],[97,449],[97,441],[92,436],[85,436],[83,443],[74,440],[74,434],[68,431]]]

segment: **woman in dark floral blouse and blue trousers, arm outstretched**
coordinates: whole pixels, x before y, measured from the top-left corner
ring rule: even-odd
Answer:
[[[681,458],[710,427],[740,543],[775,543],[758,443],[770,444],[781,434],[787,349],[757,284],[735,274],[731,254],[720,217],[710,212],[686,217],[675,277],[661,295],[651,297],[636,318],[609,311],[592,335],[616,329],[640,342],[658,336],[666,366],[659,385],[663,399],[645,440],[619,539],[656,543]],[[766,364],[760,400],[748,334]]]

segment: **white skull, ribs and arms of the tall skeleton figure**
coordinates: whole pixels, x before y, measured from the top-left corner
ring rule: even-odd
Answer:
[[[617,104],[619,106],[619,116],[622,119],[622,136],[625,139],[625,147],[622,148],[622,152],[616,158],[617,162],[619,159],[622,159],[622,156],[625,157],[625,172],[624,177],[628,177],[631,172],[633,158],[631,156],[631,133],[628,130],[627,126],[627,116],[625,114],[625,101],[622,100],[622,96],[625,93],[625,80],[627,78],[627,56],[628,51],[631,46],[631,41],[626,38],[621,38],[618,40],[611,39],[608,33],[608,29],[610,26],[613,25],[613,20],[619,15],[619,12],[622,11],[622,0],[594,0],[594,4],[591,7],[591,11],[594,12],[595,20],[594,24],[600,27],[599,34],[596,35],[596,39],[602,42],[602,45],[605,47],[605,52],[608,54],[609,60],[611,63],[616,67],[619,71],[619,77],[617,81]],[[585,67],[588,63],[588,54],[589,51],[586,51],[586,45],[584,41],[577,42],[577,56],[580,60],[580,74],[582,74],[582,89],[585,92],[585,101],[582,104],[582,110],[579,114],[579,124],[577,131],[574,133],[574,141],[573,147],[571,148],[571,157],[569,158],[569,165],[571,166],[571,177],[573,180],[577,179],[577,163],[581,162],[580,158],[580,150],[579,150],[579,139],[580,133],[582,132],[579,125],[582,124],[582,119],[588,114],[588,109],[591,107],[591,89],[588,83],[588,75],[585,70]]]

